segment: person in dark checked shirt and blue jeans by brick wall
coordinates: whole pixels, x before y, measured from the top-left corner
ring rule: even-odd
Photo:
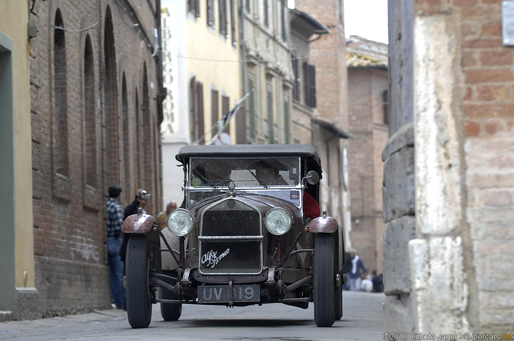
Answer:
[[[123,213],[119,200],[121,188],[118,185],[109,187],[107,199],[107,253],[109,275],[111,277],[111,295],[117,308],[126,310],[125,288],[123,288],[123,263],[119,255],[121,250],[121,228]]]

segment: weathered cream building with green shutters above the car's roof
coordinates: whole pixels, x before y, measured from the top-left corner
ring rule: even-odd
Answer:
[[[242,4],[243,93],[254,89],[245,103],[246,143],[291,143],[294,78],[287,1]]]

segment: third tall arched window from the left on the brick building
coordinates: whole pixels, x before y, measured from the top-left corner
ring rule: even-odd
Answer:
[[[116,52],[111,8],[107,6],[104,31],[105,53],[105,158],[107,183],[120,183],[118,91],[116,86]]]

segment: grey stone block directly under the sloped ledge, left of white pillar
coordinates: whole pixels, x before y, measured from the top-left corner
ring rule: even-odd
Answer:
[[[382,196],[384,222],[414,214],[414,147],[402,148],[384,162]]]

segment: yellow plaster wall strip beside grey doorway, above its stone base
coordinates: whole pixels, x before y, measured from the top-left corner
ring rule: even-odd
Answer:
[[[34,287],[28,3],[0,1],[0,31],[13,40],[16,287]]]

